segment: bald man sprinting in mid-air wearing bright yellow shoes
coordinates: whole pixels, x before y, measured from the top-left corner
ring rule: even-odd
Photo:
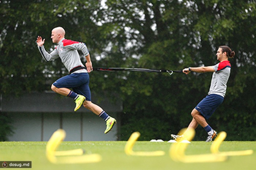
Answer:
[[[107,126],[104,133],[108,133],[112,130],[116,119],[110,117],[101,107],[91,102],[88,73],[93,70],[93,66],[87,46],[82,42],[65,39],[65,30],[62,27],[53,28],[51,38],[57,47],[48,53],[44,48],[45,39],[42,39],[41,36],[37,37],[37,45],[42,57],[46,62],[60,58],[70,73],[56,80],[51,89],[63,96],[74,98],[76,104],[74,111],[77,111],[83,104],[85,108],[102,117]],[[78,50],[82,51],[86,58],[86,67],[80,59]]]

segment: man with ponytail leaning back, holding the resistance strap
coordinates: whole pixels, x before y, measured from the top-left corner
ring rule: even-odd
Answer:
[[[217,107],[223,102],[227,81],[229,79],[231,65],[229,58],[234,58],[235,52],[228,46],[219,46],[216,57],[219,63],[213,66],[202,67],[188,67],[183,69],[183,73],[189,74],[190,72],[206,73],[213,72],[211,79],[211,86],[208,95],[203,98],[202,101],[192,110],[192,121],[188,125],[188,128],[196,129],[198,125],[201,125],[207,132],[208,137],[206,142],[211,142],[216,136],[217,132],[213,130],[207,123],[207,119],[214,113]],[[182,135],[171,135],[175,140],[182,138]]]

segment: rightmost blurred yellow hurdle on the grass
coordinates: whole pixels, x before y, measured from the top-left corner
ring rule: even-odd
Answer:
[[[213,141],[211,145],[211,152],[214,154],[221,154],[227,156],[241,156],[241,155],[251,155],[253,154],[253,150],[244,150],[244,151],[227,151],[227,152],[220,152],[219,147],[223,140],[225,140],[227,133],[222,131],[220,132],[216,139]]]

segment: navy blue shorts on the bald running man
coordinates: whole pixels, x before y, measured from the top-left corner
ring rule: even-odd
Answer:
[[[81,94],[86,97],[87,101],[91,101],[89,80],[88,73],[73,73],[59,78],[53,85],[57,88],[72,88],[75,93]]]

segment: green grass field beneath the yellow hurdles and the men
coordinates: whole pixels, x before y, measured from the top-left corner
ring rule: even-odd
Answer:
[[[126,141],[62,142],[58,150],[83,148],[86,154],[100,154],[102,161],[83,164],[52,164],[46,158],[47,142],[0,142],[0,161],[32,161],[33,170],[252,170],[256,167],[256,141],[224,141],[219,151],[252,149],[252,155],[231,156],[225,162],[181,163],[169,156],[171,143],[137,141],[133,151],[165,151],[163,156],[128,156]],[[211,142],[192,141],[186,155],[210,153]],[[2,166],[0,165],[0,168]]]

